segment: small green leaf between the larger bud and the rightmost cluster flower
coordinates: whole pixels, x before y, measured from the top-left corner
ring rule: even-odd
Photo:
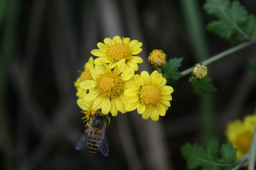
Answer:
[[[171,58],[166,62],[165,66],[161,68],[163,71],[163,77],[165,77],[169,83],[175,83],[182,77],[182,74],[178,72],[178,68],[181,66],[183,58]]]

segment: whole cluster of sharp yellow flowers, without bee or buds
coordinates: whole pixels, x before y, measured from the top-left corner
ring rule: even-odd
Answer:
[[[143,62],[136,56],[142,51],[141,46],[138,40],[115,36],[105,38],[104,44],[97,44],[99,49],[91,51],[97,58],[89,58],[85,71],[74,83],[77,105],[83,110],[85,121],[97,109],[112,116],[117,116],[118,111],[137,109],[143,119],[150,117],[154,121],[165,115],[173,88],[166,85],[166,79],[158,71],[151,75],[146,71],[135,74],[138,63]]]

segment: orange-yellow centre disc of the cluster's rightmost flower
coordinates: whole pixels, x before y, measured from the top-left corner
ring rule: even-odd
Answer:
[[[147,107],[156,106],[161,98],[160,91],[153,85],[146,85],[141,89],[141,102]]]

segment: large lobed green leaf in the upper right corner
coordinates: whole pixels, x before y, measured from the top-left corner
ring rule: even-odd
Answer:
[[[232,43],[240,43],[256,36],[256,19],[247,14],[238,0],[206,0],[205,10],[217,20],[208,24],[207,29]]]

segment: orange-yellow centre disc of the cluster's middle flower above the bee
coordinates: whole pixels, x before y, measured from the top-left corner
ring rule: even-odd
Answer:
[[[116,98],[123,92],[123,80],[114,71],[104,72],[96,78],[99,95],[104,98]]]

